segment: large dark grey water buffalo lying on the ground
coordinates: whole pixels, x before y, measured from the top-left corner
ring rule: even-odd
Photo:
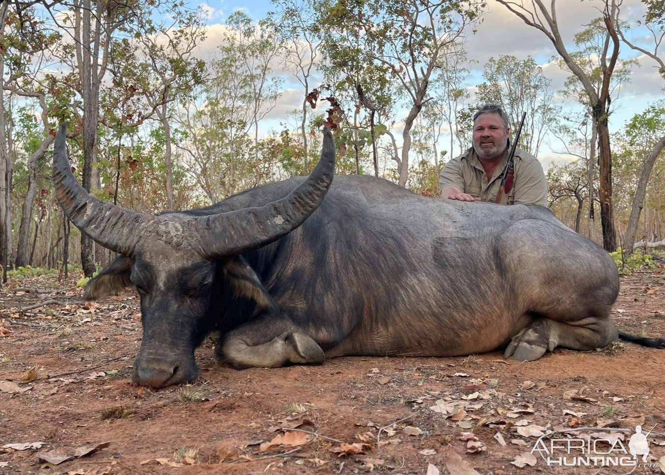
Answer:
[[[211,331],[221,335],[217,361],[238,368],[500,347],[532,361],[617,337],[614,262],[546,208],[426,198],[372,176],[332,182],[325,130],[311,176],[153,216],[88,195],[65,132],[55,142],[58,199],[82,232],[121,254],[86,297],[138,290],[140,385],[195,379],[194,349]]]

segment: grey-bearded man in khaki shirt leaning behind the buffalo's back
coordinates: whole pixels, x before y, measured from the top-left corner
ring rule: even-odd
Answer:
[[[496,104],[486,104],[473,116],[473,146],[450,160],[439,176],[441,197],[460,201],[496,201],[508,164],[508,118]],[[547,206],[547,179],[535,156],[515,148],[513,184],[501,204]]]

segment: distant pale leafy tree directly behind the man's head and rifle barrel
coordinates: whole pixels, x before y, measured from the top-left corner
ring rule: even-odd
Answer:
[[[479,84],[476,97],[480,102],[501,104],[516,131],[526,112],[520,146],[538,156],[549,124],[555,118],[551,80],[532,57],[520,60],[511,55],[490,57],[483,67],[485,82]]]

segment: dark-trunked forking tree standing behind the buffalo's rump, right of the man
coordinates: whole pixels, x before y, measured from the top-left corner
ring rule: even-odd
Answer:
[[[569,52],[561,35],[557,19],[556,1],[549,7],[544,0],[530,0],[516,3],[512,0],[497,0],[509,11],[517,15],[526,25],[541,31],[553,44],[561,56],[562,63],[575,75],[585,92],[584,103],[593,117],[597,129],[599,147],[599,200],[602,245],[608,251],[616,249],[616,228],[614,226],[614,206],[612,204],[612,155],[608,119],[612,102],[612,76],[619,56],[619,37],[616,33],[618,5],[616,0],[606,0],[602,18],[594,25],[593,35],[600,41],[599,54],[595,57],[597,67],[588,69],[587,58]],[[597,29],[602,27],[602,32]],[[599,36],[600,35],[600,36]]]

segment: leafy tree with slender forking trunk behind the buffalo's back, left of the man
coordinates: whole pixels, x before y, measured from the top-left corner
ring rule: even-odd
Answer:
[[[408,178],[411,129],[430,100],[429,84],[439,74],[442,53],[479,19],[483,6],[475,0],[317,0],[315,4],[329,71],[348,71],[350,76],[338,86],[361,84],[370,96],[394,96],[408,110],[402,150],[394,156],[401,186]]]

